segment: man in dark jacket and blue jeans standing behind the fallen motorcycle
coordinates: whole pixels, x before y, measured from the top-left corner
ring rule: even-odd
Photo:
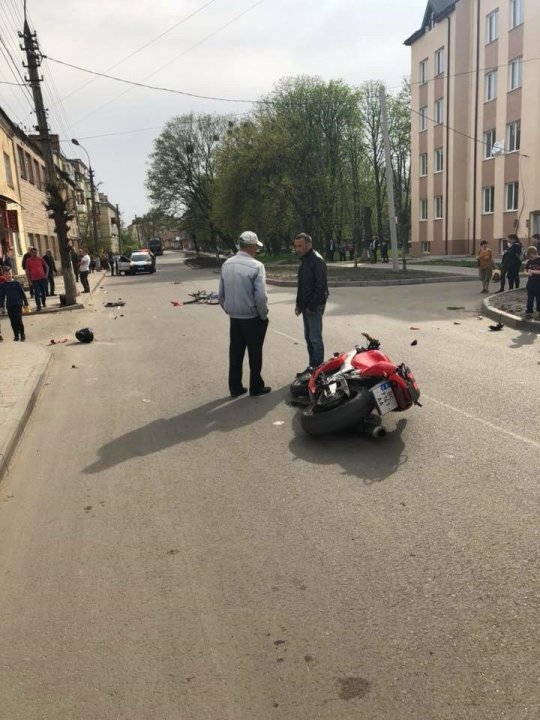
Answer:
[[[300,233],[294,238],[294,250],[300,258],[295,313],[302,315],[304,320],[309,367],[314,368],[324,360],[322,316],[328,298],[326,263],[313,249],[311,237],[306,233]]]

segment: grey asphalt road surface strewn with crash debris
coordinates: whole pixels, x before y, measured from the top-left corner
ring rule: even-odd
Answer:
[[[54,349],[0,487],[0,718],[536,720],[538,337],[475,283],[335,290],[327,354],[379,337],[424,406],[313,440],[291,289],[274,392],[234,401],[225,315],[171,305],[196,289],[168,255],[28,320],[97,340]]]

